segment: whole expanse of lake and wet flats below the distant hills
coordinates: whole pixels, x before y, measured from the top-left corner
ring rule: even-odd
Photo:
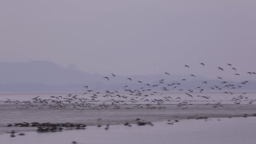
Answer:
[[[205,91],[203,94],[193,92],[192,98],[184,92],[163,93],[162,91],[155,91],[154,95],[150,95],[152,92],[148,91],[140,95],[135,95],[137,92],[130,95],[130,92],[120,91],[106,97],[106,92],[100,91],[96,94],[95,101],[91,96],[94,96],[96,92],[85,95],[83,95],[84,92],[74,91],[0,92],[0,134],[2,134],[0,137],[5,144],[17,141],[19,144],[35,142],[48,144],[50,143],[48,140],[61,144],[71,143],[71,141],[80,141],[80,143],[88,141],[91,144],[254,144],[255,138],[252,135],[256,132],[256,119],[242,116],[256,113],[256,93],[254,91],[246,91],[246,94],[243,94],[244,91],[232,92],[234,94],[225,94],[223,91]],[[72,98],[74,95],[76,98]],[[122,96],[127,96],[127,98]],[[37,99],[33,99],[36,97]],[[66,98],[73,100],[67,102]],[[82,98],[88,99],[79,100]],[[240,100],[235,101],[233,98]],[[166,101],[166,99],[169,100]],[[43,100],[48,103],[43,103]],[[31,104],[25,104],[24,101],[30,101]],[[100,107],[102,105],[110,106]],[[153,122],[154,126],[126,127],[121,125],[122,122],[135,124],[135,117]],[[212,119],[207,121],[185,120],[188,117],[212,117]],[[219,118],[221,118],[220,121],[217,120]],[[168,119],[181,121],[174,125],[167,125]],[[7,123],[21,122],[82,123],[88,125],[88,128],[38,134],[34,127],[6,127]],[[110,129],[106,131],[104,128],[96,128],[97,124],[110,124]],[[6,132],[12,130],[24,132],[27,135],[10,138]]]

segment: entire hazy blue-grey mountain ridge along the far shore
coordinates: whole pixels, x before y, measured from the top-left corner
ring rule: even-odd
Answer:
[[[206,89],[210,86],[221,83],[220,80],[208,80],[203,76],[196,76],[193,80],[186,82],[181,79],[191,79],[189,75],[145,75],[145,76],[115,76],[112,74],[102,75],[98,73],[86,73],[74,67],[61,67],[48,61],[30,62],[0,62],[0,91],[83,91],[83,86],[88,85],[89,89],[94,90],[122,90],[127,89],[172,89],[170,83],[182,83],[177,89],[190,89],[196,85],[201,86],[202,82],[207,81],[207,85],[202,85]],[[114,72],[113,72],[114,73]],[[109,77],[109,81],[103,77]],[[127,78],[130,77],[132,82]],[[165,79],[164,83],[159,83],[160,79]],[[143,83],[138,83],[141,81]],[[148,87],[147,84],[150,84]],[[241,85],[239,82],[230,82]],[[152,85],[159,85],[151,87]],[[220,85],[223,86],[223,85]],[[256,82],[250,82],[242,89],[255,89]]]

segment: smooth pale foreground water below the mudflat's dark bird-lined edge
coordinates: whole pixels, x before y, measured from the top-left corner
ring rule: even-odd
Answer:
[[[154,122],[154,126],[88,126],[84,130],[54,133],[27,132],[11,138],[0,135],[4,144],[255,144],[256,117],[180,120],[173,125]]]

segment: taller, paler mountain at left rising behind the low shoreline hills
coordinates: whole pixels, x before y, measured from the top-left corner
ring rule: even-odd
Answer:
[[[64,83],[92,82],[98,74],[85,73],[74,68],[63,68],[53,62],[0,62],[0,83],[45,83],[60,85]]]

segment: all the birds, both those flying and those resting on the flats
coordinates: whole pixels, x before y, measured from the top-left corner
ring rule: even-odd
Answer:
[[[204,63],[199,63],[202,67],[205,66]],[[237,71],[236,68],[232,67],[231,64],[227,64],[231,70]],[[189,65],[183,65],[185,68],[190,69]],[[220,71],[225,71],[222,67],[216,67]],[[255,72],[245,72],[246,74],[256,75]],[[233,73],[235,76],[240,76],[238,73]],[[163,72],[163,76],[168,77],[170,73]],[[112,73],[111,77],[103,77],[102,79],[110,81],[114,79],[117,75]],[[195,78],[195,74],[189,74],[188,77]],[[165,78],[166,79],[166,78]],[[133,110],[133,109],[168,109],[167,105],[176,105],[177,108],[186,110],[189,105],[193,105],[198,101],[203,101],[205,105],[209,105],[213,108],[225,107],[223,106],[222,101],[217,102],[216,99],[210,101],[211,96],[206,94],[209,90],[217,91],[216,95],[222,94],[222,96],[229,95],[229,102],[231,104],[240,104],[243,101],[243,104],[252,104],[256,99],[250,99],[246,92],[240,93],[240,91],[232,91],[233,89],[239,89],[245,86],[249,81],[242,81],[239,84],[231,83],[225,80],[222,76],[216,76],[218,83],[211,85],[210,82],[202,80],[200,85],[193,85],[191,89],[185,89],[183,86],[187,79],[180,79],[179,81],[169,82],[165,79],[160,79],[153,84],[143,83],[141,80],[136,80],[132,78],[127,78],[129,83],[139,83],[142,87],[137,89],[131,89],[131,85],[123,86],[122,91],[94,91],[89,89],[90,86],[86,85],[83,88],[86,92],[82,95],[72,95],[68,94],[66,96],[49,96],[48,98],[43,98],[42,96],[36,96],[32,98],[32,101],[18,101],[13,99],[8,99],[4,102],[6,103],[15,103],[17,109],[27,109],[27,108],[52,108],[52,109],[65,109],[72,108],[74,110],[79,110],[80,112],[86,111],[88,109],[101,110],[105,108],[119,110]],[[238,93],[239,92],[239,93]],[[193,103],[194,102],[194,103]],[[206,102],[206,103],[205,103]],[[196,103],[197,104],[197,103]],[[256,114],[247,115],[247,116],[256,116]],[[188,117],[188,119],[205,119],[208,117]],[[97,119],[99,121],[101,119]],[[151,125],[151,122],[146,122],[139,118],[135,118],[137,125]],[[168,120],[168,125],[173,125],[179,120]],[[131,126],[129,122],[123,122],[124,126]],[[80,123],[14,123],[7,124],[7,127],[19,126],[19,127],[37,127],[37,132],[56,132],[63,131],[65,129],[85,129],[86,125]],[[102,125],[97,124],[97,127]],[[110,125],[107,124],[104,129],[108,130]],[[15,137],[15,131],[10,132],[10,137]],[[18,135],[25,135],[20,133]],[[76,144],[76,141],[71,143]]]

